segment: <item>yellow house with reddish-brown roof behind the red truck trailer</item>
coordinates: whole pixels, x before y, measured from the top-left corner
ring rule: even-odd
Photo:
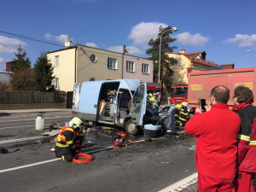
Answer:
[[[218,65],[215,62],[207,61],[207,53],[205,51],[198,51],[186,53],[184,49],[179,50],[178,53],[165,53],[169,58],[177,60],[177,65],[172,66],[173,84],[188,84],[188,73],[221,70],[226,68],[234,68],[234,64]]]

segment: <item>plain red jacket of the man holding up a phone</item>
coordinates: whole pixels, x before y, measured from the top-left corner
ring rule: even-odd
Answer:
[[[206,113],[195,113],[185,125],[185,132],[196,136],[197,172],[212,178],[236,176],[238,114],[226,104],[214,104]]]

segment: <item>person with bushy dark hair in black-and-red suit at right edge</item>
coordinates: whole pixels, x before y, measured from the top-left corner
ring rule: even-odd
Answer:
[[[235,104],[233,110],[241,118],[236,191],[253,192],[253,177],[256,172],[256,108],[252,105],[253,92],[247,87],[238,86],[232,98]]]

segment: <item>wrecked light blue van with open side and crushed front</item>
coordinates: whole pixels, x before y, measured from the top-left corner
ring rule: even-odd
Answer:
[[[73,113],[86,122],[122,126],[136,135],[143,125],[159,124],[159,113],[148,108],[147,84],[118,79],[74,84]]]

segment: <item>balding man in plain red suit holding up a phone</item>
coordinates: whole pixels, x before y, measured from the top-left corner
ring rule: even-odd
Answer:
[[[239,116],[228,108],[230,90],[223,85],[211,91],[212,107],[186,123],[185,132],[196,136],[195,163],[199,192],[231,192],[236,177],[237,134]]]

